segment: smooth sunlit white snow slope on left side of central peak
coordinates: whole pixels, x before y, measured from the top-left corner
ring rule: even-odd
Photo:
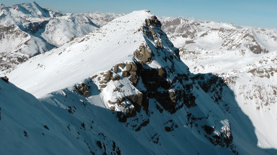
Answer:
[[[41,97],[47,93],[74,85],[100,70],[108,70],[119,62],[133,61],[134,51],[146,43],[141,28],[146,25],[146,19],[152,16],[151,13],[142,10],[116,18],[85,36],[75,38],[59,48],[31,58],[30,63],[19,65],[11,73],[16,73],[21,70],[20,68],[30,72],[32,76],[24,74],[26,75],[24,79],[28,81],[28,84],[25,84],[33,85],[33,88],[44,87],[40,91],[29,90],[24,82],[16,82],[16,74],[9,75],[13,77],[10,80],[33,93],[34,96]],[[57,66],[57,64],[60,65]],[[34,70],[27,69],[27,66],[34,68]],[[47,75],[41,76],[46,72]],[[38,82],[33,81],[36,79],[39,79]],[[41,82],[49,83],[49,85]],[[50,85],[51,83],[57,84]]]

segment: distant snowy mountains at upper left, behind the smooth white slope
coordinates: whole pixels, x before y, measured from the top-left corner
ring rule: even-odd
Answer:
[[[0,7],[0,69],[59,47],[98,28],[89,16],[59,13],[36,2]]]

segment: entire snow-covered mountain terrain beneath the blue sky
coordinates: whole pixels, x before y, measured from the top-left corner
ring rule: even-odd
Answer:
[[[27,57],[1,56],[0,154],[277,154],[276,29],[35,2],[0,25]]]

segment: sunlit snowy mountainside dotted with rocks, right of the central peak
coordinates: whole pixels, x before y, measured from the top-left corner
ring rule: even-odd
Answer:
[[[277,30],[161,17],[163,30],[192,73],[215,73],[234,91],[258,145],[277,148]]]

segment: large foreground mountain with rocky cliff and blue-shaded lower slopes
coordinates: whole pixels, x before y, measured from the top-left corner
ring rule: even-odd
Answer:
[[[161,26],[134,11],[18,65],[7,76],[21,89],[0,81],[1,152],[276,154],[223,78],[192,74]]]

